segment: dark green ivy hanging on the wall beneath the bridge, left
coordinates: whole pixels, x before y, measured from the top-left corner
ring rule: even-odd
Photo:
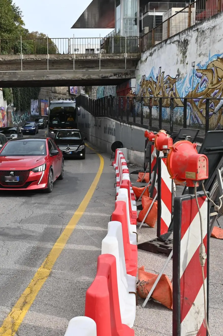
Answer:
[[[12,88],[13,105],[16,111],[30,110],[31,99],[38,99],[40,87],[15,87]]]

